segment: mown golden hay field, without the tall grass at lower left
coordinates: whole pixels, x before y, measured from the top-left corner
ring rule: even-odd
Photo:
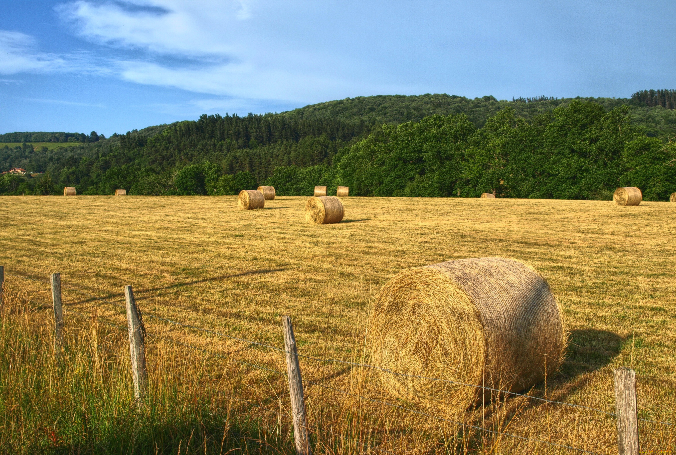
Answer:
[[[3,197],[0,265],[7,286],[25,292],[36,311],[49,302],[49,287],[13,275],[46,282],[59,271],[64,303],[84,314],[124,324],[118,308],[89,296],[123,304],[122,286],[130,284],[145,315],[279,347],[281,315],[290,315],[299,353],[361,363],[368,362],[363,346],[370,304],[395,273],[450,259],[519,259],[548,280],[570,340],[560,371],[531,394],[614,412],[612,369],[633,367],[639,417],[674,421],[676,204],[349,197],[342,199],[341,223],[311,225],[305,221],[306,200],[278,196],[266,200],[265,209],[242,211],[236,196]],[[66,313],[66,328],[73,333],[76,319]],[[289,413],[283,377],[232,366],[244,361],[285,371],[279,352],[148,316],[145,322],[157,345],[149,348],[151,387],[168,387],[166,371],[180,381],[175,371],[199,364],[185,360],[194,350],[162,347],[169,340],[222,356],[199,364],[206,373],[195,379],[199,387],[191,386],[195,397],[223,387]],[[126,333],[117,337],[122,356]],[[160,364],[164,373],[153,370]],[[471,410],[469,417],[434,410],[436,417],[540,442],[525,441],[358,398],[429,410],[389,396],[368,369],[307,358],[301,358],[301,369],[318,453],[368,452],[371,446],[395,453],[573,453],[543,441],[617,453],[615,421],[607,414],[516,398]],[[23,425],[11,412],[32,405],[14,406],[7,394],[3,400],[5,425]],[[241,402],[212,400],[212,405],[218,414]],[[266,444],[274,438],[287,444],[289,421],[273,416],[270,422],[260,421],[269,427]],[[642,422],[642,450],[674,450],[674,427]],[[206,450],[206,430],[203,437]],[[220,434],[217,439],[220,443]],[[364,441],[368,444],[360,445]],[[292,447],[283,444],[280,450]]]

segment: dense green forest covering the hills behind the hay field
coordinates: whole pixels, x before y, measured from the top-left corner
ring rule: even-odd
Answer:
[[[607,199],[617,186],[639,186],[646,199],[665,200],[676,191],[671,99],[673,90],[631,99],[388,95],[202,115],[110,138],[92,132],[51,151],[0,144],[0,169],[38,174],[5,174],[0,194],[64,186],[78,194],[237,194],[272,184],[278,194],[309,195],[326,184],[360,196]]]

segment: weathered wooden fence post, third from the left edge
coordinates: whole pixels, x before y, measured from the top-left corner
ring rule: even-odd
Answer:
[[[131,286],[124,286],[127,327],[129,329],[129,354],[131,356],[131,375],[134,379],[134,399],[139,408],[143,407],[147,377],[145,372],[145,327],[143,317],[136,306]]]

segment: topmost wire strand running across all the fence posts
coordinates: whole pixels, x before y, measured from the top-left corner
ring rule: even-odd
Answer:
[[[5,275],[7,275],[7,274],[5,274]],[[35,278],[32,278],[32,277],[26,277],[24,275],[7,275],[7,276],[14,276],[14,277],[32,279],[32,280],[37,281],[37,282],[41,281],[39,279],[35,279]],[[68,286],[68,288],[72,288],[72,287]],[[118,304],[116,302],[111,302],[110,300],[105,300],[104,298],[99,298],[97,296],[92,296],[91,294],[88,294],[87,292],[84,292],[82,290],[78,290],[77,288],[72,288],[72,290],[75,290],[76,292],[79,292],[80,294],[88,296],[89,298],[93,298],[93,299],[99,300],[101,302],[112,304],[114,306],[119,306],[120,308],[125,308],[124,305],[122,305],[122,304]],[[279,352],[283,352],[285,354],[289,354],[289,352],[287,352],[287,351],[285,351],[281,348],[277,348],[276,346],[270,346],[269,344],[264,344],[264,343],[260,343],[260,342],[246,340],[245,338],[239,338],[239,337],[235,337],[235,336],[231,336],[231,335],[226,335],[225,333],[220,333],[220,332],[217,332],[217,331],[204,329],[202,327],[197,327],[195,325],[188,325],[188,324],[180,323],[178,321],[173,321],[172,319],[156,316],[156,315],[153,315],[151,313],[145,313],[145,315],[147,315],[147,317],[150,317],[152,319],[158,319],[160,321],[165,321],[167,323],[178,325],[180,327],[186,327],[186,328],[194,329],[194,330],[197,330],[197,331],[203,331],[205,333],[211,333],[212,335],[222,336],[224,338],[230,338],[231,340],[237,340],[237,341],[240,341],[240,342],[254,344],[256,346],[261,346],[261,347],[264,347],[264,348],[269,348],[269,349],[273,349],[273,350],[276,350],[276,351],[279,351]],[[445,383],[452,383],[454,385],[462,385],[464,387],[475,387],[475,388],[482,389],[482,390],[488,390],[490,392],[498,392],[498,393],[501,393],[501,394],[509,394],[509,395],[512,395],[512,396],[521,396],[521,397],[529,398],[531,400],[537,400],[537,401],[546,402],[546,403],[562,404],[563,406],[570,406],[570,407],[574,407],[574,408],[582,408],[582,409],[592,410],[592,411],[595,411],[595,412],[600,412],[602,414],[607,414],[607,415],[610,415],[610,416],[613,416],[613,417],[617,417],[617,414],[615,414],[614,412],[608,412],[608,411],[605,411],[605,410],[602,410],[602,409],[592,408],[590,406],[584,406],[582,404],[573,404],[573,403],[556,401],[556,400],[547,400],[546,398],[539,398],[539,397],[531,396],[531,395],[527,395],[527,394],[518,394],[516,392],[510,392],[508,390],[495,389],[493,387],[486,387],[484,385],[467,384],[467,383],[462,383],[462,382],[458,382],[458,381],[452,381],[450,379],[427,377],[427,376],[423,376],[423,375],[408,375],[406,373],[399,373],[397,371],[392,371],[390,369],[378,367],[377,365],[349,362],[347,360],[338,360],[338,359],[335,359],[335,358],[316,358],[316,357],[308,356],[308,355],[305,355],[305,354],[297,354],[297,356],[302,357],[302,358],[307,358],[308,360],[314,360],[316,362],[341,363],[343,365],[352,365],[352,366],[355,366],[355,367],[376,369],[376,370],[379,370],[379,371],[385,371],[385,373],[389,373],[389,374],[397,375],[397,376],[402,376],[402,377],[414,377],[414,378],[417,378],[417,379],[424,379],[424,380],[427,380],[427,381],[441,381],[441,382],[445,382]],[[640,419],[640,418],[638,420],[643,421],[643,422],[648,422],[648,423],[659,423],[661,425],[673,425],[673,422],[660,422],[660,421],[653,421],[653,420],[649,420],[649,419]]]

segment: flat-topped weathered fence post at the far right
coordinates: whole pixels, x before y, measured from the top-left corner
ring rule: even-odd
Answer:
[[[617,414],[617,449],[619,455],[638,455],[638,419],[636,373],[622,367],[615,377],[615,413]]]

